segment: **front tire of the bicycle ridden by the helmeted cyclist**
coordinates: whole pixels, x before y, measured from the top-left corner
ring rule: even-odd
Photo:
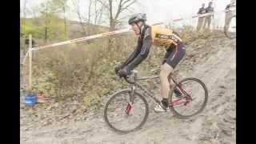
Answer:
[[[112,102],[112,100],[114,100],[114,98],[120,97],[120,95],[124,94],[124,93],[130,94],[131,90],[120,90],[120,91],[114,93],[111,96],[110,100],[106,103],[106,106],[105,106],[104,119],[105,119],[107,125],[110,126],[110,128],[112,130],[115,130],[115,131],[120,132],[120,133],[129,133],[129,132],[132,132],[134,130],[138,130],[140,127],[142,127],[145,124],[145,122],[146,122],[146,120],[148,118],[148,114],[149,114],[149,106],[148,106],[148,102],[146,102],[146,98],[144,98],[142,96],[142,94],[138,93],[137,91],[134,91],[135,97],[141,98],[142,102],[145,104],[146,114],[145,114],[144,118],[142,119],[142,122],[140,122],[140,124],[138,126],[136,126],[134,129],[132,129],[132,130],[119,130],[113,124],[111,124],[110,121],[109,121],[109,118],[108,118],[108,106],[110,105],[110,102]]]

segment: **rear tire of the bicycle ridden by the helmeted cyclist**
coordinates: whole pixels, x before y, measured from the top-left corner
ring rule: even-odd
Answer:
[[[185,78],[183,79],[182,81],[178,82],[178,85],[183,83],[183,82],[186,82],[186,81],[194,81],[194,82],[198,82],[198,84],[200,84],[200,86],[202,86],[203,90],[204,90],[204,101],[202,103],[202,106],[201,108],[196,111],[195,113],[193,114],[189,114],[189,115],[183,115],[183,114],[180,114],[178,112],[178,110],[175,110],[175,107],[174,106],[170,106],[170,109],[172,110],[172,112],[174,113],[174,115],[178,118],[190,118],[190,117],[193,117],[194,115],[196,114],[199,114],[202,112],[202,110],[206,107],[206,103],[208,101],[208,90],[206,88],[206,85],[198,78]],[[174,86],[174,88],[176,88],[177,86]],[[172,102],[174,98],[174,94],[171,94],[170,95],[170,102]],[[192,101],[193,102],[193,101]]]

